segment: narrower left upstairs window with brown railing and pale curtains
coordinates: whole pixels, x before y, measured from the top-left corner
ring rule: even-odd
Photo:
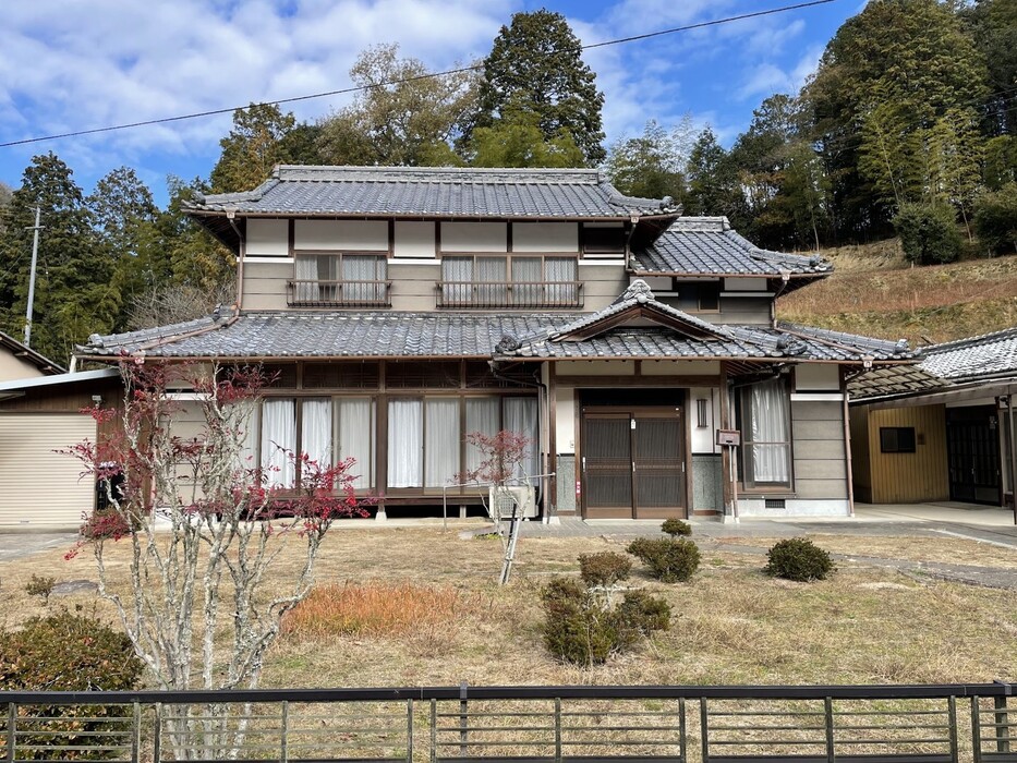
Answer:
[[[386,261],[376,254],[298,254],[290,304],[311,307],[387,306]]]

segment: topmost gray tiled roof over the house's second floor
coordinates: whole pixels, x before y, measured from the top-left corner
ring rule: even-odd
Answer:
[[[623,196],[598,170],[280,166],[254,191],[196,198],[190,211],[256,215],[583,218],[677,216]]]

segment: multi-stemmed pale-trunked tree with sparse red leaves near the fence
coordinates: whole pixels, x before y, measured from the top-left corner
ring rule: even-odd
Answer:
[[[362,513],[352,461],[319,464],[287,453],[299,488],[283,504],[279,475],[245,460],[261,370],[131,361],[121,370],[120,410],[96,407],[97,441],[69,450],[102,481],[109,504],[82,531],[99,593],[160,689],[256,688],[280,619],[311,589],[332,520]],[[178,434],[182,403],[168,391],[182,379],[194,390],[187,404],[201,412],[192,437]],[[108,564],[111,541],[130,546],[125,591]],[[296,543],[293,571],[282,554]],[[166,717],[169,741],[178,759],[235,756],[249,714],[230,722],[222,705],[180,706]]]

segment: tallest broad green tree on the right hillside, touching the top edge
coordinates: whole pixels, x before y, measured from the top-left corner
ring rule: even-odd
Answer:
[[[839,235],[887,232],[894,210],[922,197],[933,179],[916,157],[939,120],[985,96],[986,76],[959,16],[936,0],[870,2],[845,22],[804,90]]]

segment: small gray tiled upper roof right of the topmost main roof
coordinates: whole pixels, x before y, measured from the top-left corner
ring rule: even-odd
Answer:
[[[771,252],[731,230],[726,217],[679,217],[659,239],[637,251],[633,270],[647,276],[744,275],[779,278],[824,276],[833,265],[820,256]]]

